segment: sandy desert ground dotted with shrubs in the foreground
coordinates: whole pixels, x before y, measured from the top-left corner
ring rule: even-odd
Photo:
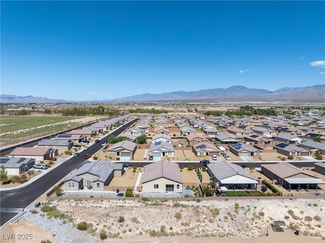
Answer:
[[[324,242],[321,237],[325,236],[324,199],[59,200],[51,201],[50,205],[71,215],[74,223],[92,223],[96,235],[104,228],[109,237],[103,241],[98,238],[98,242]],[[288,214],[289,210],[294,212],[295,219]],[[176,213],[180,213],[180,219],[175,217]],[[316,215],[320,221],[305,220],[306,216]],[[119,223],[120,216],[124,221]],[[50,222],[47,217],[40,220]],[[284,232],[272,230],[270,225],[274,220],[286,223]],[[296,230],[299,235],[294,234]],[[40,242],[55,237],[23,220],[19,221],[19,227],[14,224],[2,228],[2,233],[10,232],[32,233],[36,240],[6,242]]]

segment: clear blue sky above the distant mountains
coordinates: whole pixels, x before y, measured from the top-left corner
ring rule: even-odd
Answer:
[[[1,1],[1,94],[324,84],[324,1]]]

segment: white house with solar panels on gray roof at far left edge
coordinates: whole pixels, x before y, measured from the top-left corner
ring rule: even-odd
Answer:
[[[8,176],[19,176],[35,164],[35,159],[20,157],[0,157],[0,165],[6,168]]]

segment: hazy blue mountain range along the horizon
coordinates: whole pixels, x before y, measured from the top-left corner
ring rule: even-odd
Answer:
[[[249,101],[292,101],[292,102],[325,102],[325,84],[310,87],[284,87],[275,91],[266,89],[250,89],[245,86],[229,88],[201,89],[198,91],[175,91],[170,93],[139,95],[115,98],[110,100],[73,101],[49,99],[46,97],[0,95],[1,103],[66,103],[66,102],[132,102],[132,101],[196,101],[220,102],[222,100]]]

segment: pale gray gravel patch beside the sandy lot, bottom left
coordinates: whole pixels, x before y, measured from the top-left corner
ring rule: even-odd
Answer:
[[[39,211],[37,214],[31,214],[30,212],[25,215],[25,220],[34,224],[35,226],[44,229],[55,236],[52,238],[52,243],[95,243],[100,242],[98,236],[92,236],[86,231],[80,231],[73,227],[72,223],[62,223],[62,220],[51,218],[47,216],[41,216],[44,214]]]

